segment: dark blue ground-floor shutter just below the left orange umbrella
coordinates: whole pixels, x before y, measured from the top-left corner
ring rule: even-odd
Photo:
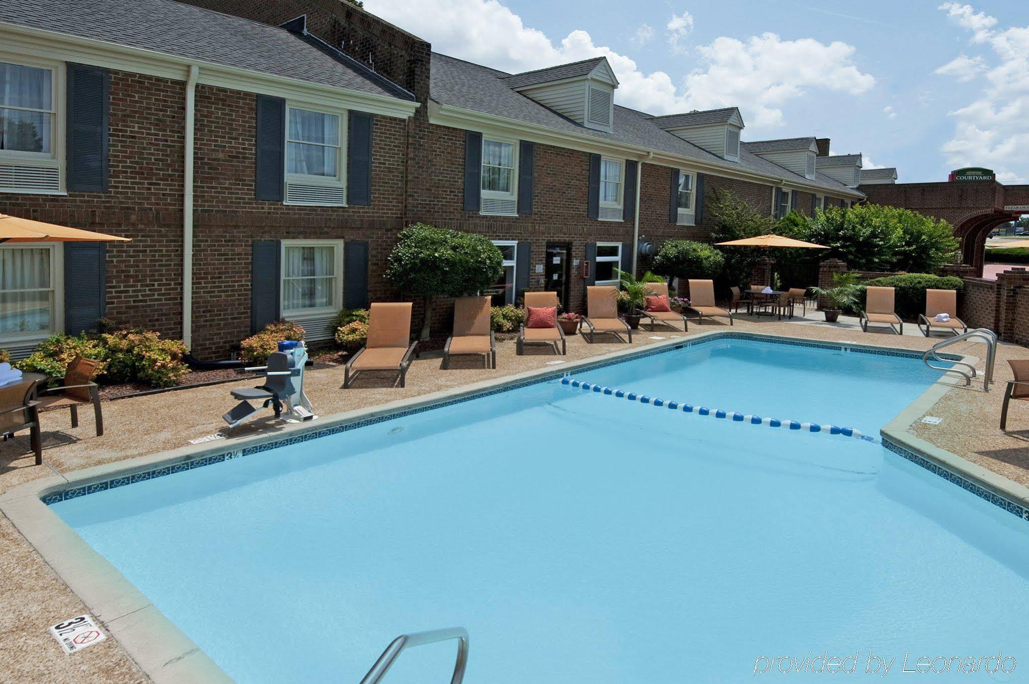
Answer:
[[[107,313],[107,244],[65,243],[65,332],[96,330]]]

